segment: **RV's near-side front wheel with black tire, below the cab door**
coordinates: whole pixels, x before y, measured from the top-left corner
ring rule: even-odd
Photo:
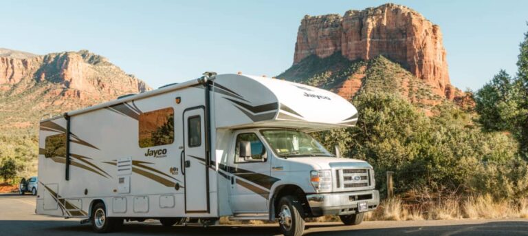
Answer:
[[[301,236],[305,230],[303,205],[294,196],[285,196],[278,202],[278,224],[285,236]]]

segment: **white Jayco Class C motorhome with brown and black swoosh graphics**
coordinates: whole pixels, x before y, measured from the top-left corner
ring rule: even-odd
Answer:
[[[353,127],[358,111],[324,89],[208,72],[185,83],[41,120],[36,213],[96,232],[124,220],[219,224],[305,217],[359,224],[379,203],[373,168],[309,133]]]

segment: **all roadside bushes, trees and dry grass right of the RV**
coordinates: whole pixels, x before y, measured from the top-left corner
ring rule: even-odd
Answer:
[[[426,115],[401,93],[364,89],[352,100],[357,127],[317,134],[328,149],[338,144],[344,157],[373,165],[382,203],[367,219],[528,217],[528,34],[517,65],[516,76],[501,70],[476,91],[473,109],[445,101]],[[394,76],[371,73],[367,81]]]

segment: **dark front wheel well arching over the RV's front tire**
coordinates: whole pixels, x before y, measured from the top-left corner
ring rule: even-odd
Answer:
[[[297,200],[299,200],[300,204],[303,205],[305,217],[309,217],[311,215],[311,208],[308,204],[308,200],[306,199],[305,191],[303,191],[303,189],[300,189],[299,186],[296,186],[294,184],[285,184],[282,186],[278,186],[275,189],[272,201],[270,201],[270,216],[278,216],[278,202],[281,200],[281,198],[287,195],[293,195],[297,197]]]

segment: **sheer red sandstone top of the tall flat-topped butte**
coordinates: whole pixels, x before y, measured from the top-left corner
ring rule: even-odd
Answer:
[[[294,65],[310,55],[325,58],[336,52],[349,60],[385,56],[431,85],[435,94],[454,98],[442,34],[418,12],[388,3],[362,11],[305,16],[301,21]]]

